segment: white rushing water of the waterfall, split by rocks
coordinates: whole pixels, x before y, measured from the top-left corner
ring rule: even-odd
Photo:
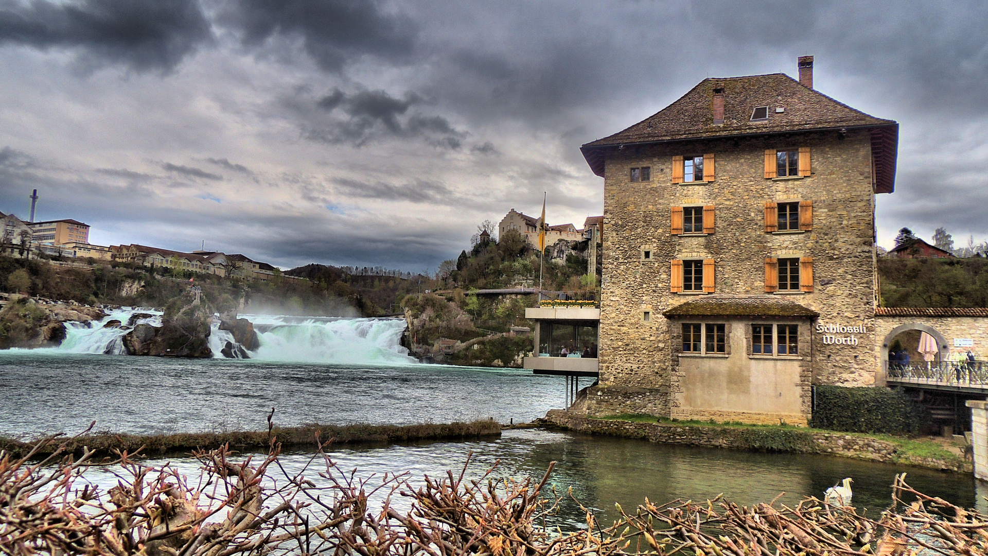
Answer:
[[[136,324],[161,325],[161,312],[146,308],[112,311],[90,325],[66,323],[66,337],[60,346],[44,349],[63,353],[103,353],[125,355],[123,338]],[[407,364],[416,360],[401,345],[405,330],[402,319],[343,319],[334,317],[288,317],[240,315],[254,324],[260,347],[247,352],[262,361],[308,363]],[[120,325],[114,325],[119,321]],[[215,318],[209,334],[214,358],[233,335],[219,329]]]

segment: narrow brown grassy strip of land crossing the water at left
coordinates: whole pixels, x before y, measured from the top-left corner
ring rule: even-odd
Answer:
[[[191,452],[197,449],[215,449],[224,444],[239,451],[267,451],[272,437],[285,446],[294,448],[316,447],[316,435],[325,445],[361,442],[398,443],[418,440],[463,440],[485,436],[500,436],[501,425],[493,419],[472,422],[451,422],[446,424],[351,424],[334,426],[329,424],[306,424],[303,426],[275,427],[268,431],[232,431],[179,434],[86,434],[71,439],[67,448],[80,450],[83,446],[96,450],[99,455],[111,455],[115,451],[133,454],[138,449],[141,454],[155,455],[167,452]],[[51,453],[58,442],[48,444],[39,455]],[[22,441],[0,437],[0,449],[22,456],[35,445],[33,441]],[[141,449],[143,448],[143,449]]]

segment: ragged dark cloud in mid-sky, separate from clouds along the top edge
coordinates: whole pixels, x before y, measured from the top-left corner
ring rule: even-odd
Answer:
[[[412,92],[397,98],[382,90],[348,95],[333,89],[316,102],[316,106],[327,113],[328,120],[324,125],[312,128],[307,137],[354,146],[381,138],[421,139],[438,147],[459,148],[466,134],[455,130],[449,120],[442,116],[408,114],[411,107],[422,104],[423,99]]]

